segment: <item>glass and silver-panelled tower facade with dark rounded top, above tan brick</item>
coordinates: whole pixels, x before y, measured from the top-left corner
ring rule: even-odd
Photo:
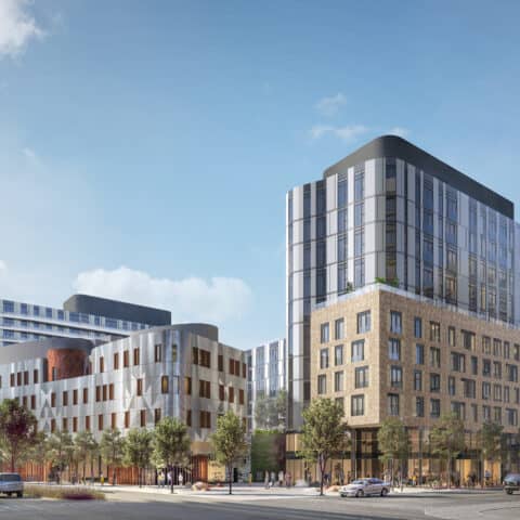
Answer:
[[[519,323],[512,204],[411,143],[379,138],[286,203],[289,429],[310,400],[317,303],[379,281]]]

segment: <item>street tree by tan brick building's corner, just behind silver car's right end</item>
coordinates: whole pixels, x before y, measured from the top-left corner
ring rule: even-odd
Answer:
[[[387,417],[377,432],[377,444],[381,452],[380,460],[390,469],[393,487],[395,466],[399,465],[401,487],[403,486],[403,463],[408,456],[408,433],[404,422],[398,417]],[[396,464],[395,464],[396,463]]]

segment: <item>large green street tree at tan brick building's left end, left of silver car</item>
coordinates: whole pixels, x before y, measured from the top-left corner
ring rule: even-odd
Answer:
[[[320,468],[320,494],[323,495],[325,468],[328,459],[343,448],[348,426],[343,408],[332,399],[314,399],[303,411],[301,455]]]

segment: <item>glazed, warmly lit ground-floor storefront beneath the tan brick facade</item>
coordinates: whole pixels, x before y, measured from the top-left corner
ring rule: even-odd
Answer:
[[[399,477],[408,483],[447,485],[447,465],[445,460],[432,456],[428,448],[428,432],[421,429],[410,429],[410,455],[401,468],[394,469]],[[489,485],[500,483],[509,471],[519,471],[519,448],[512,435],[504,437],[504,454],[500,461],[482,460],[477,446],[477,435],[466,434],[466,450],[454,460],[452,466],[452,483],[455,485],[474,485],[486,481]],[[306,463],[298,454],[300,450],[298,433],[287,433],[286,471],[291,480],[317,482],[320,471],[315,464]],[[390,471],[379,459],[377,428],[355,429],[351,432],[348,451],[338,453],[327,464],[325,473],[330,483],[343,483],[362,477],[390,479]]]

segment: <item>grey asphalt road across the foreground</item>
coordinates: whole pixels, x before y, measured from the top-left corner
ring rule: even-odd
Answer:
[[[520,518],[520,495],[504,493],[335,496],[194,497],[115,493],[106,502],[0,498],[0,520],[482,520]]]

